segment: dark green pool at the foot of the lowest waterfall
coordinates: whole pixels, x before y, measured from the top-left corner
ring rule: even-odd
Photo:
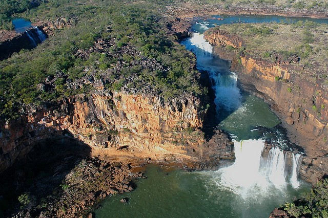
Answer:
[[[219,185],[217,171],[186,172],[151,164],[145,175],[148,179],[136,181],[134,191],[108,197],[95,217],[269,217],[273,208],[308,190],[304,185],[299,190],[273,189],[265,198],[254,193],[244,199]],[[121,203],[126,197],[129,202]]]

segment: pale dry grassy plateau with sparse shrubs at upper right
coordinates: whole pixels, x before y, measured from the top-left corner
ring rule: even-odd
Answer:
[[[243,53],[275,62],[284,61],[316,72],[319,79],[327,77],[328,40],[326,24],[298,21],[294,24],[232,24],[217,27],[243,40]],[[302,72],[298,72],[302,73]]]

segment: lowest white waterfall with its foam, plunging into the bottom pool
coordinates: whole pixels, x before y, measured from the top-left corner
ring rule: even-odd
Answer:
[[[227,188],[243,199],[264,198],[271,194],[283,194],[289,180],[285,172],[290,166],[286,165],[286,156],[278,147],[273,147],[267,160],[262,158],[264,140],[249,139],[236,141],[235,163],[229,167],[214,172],[213,182],[218,187]],[[295,161],[300,162],[301,155]],[[294,188],[299,187],[297,180],[297,164],[291,166],[293,175],[290,180]],[[294,172],[296,175],[294,175]],[[274,193],[271,193],[274,192]]]

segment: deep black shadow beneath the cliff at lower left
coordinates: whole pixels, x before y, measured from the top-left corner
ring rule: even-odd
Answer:
[[[47,197],[64,195],[66,176],[90,152],[87,144],[65,131],[61,136],[37,143],[0,175],[0,217],[11,216],[22,209],[28,210],[31,217],[50,210]]]

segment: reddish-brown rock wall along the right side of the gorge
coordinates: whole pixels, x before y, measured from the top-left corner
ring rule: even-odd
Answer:
[[[314,183],[328,174],[328,90],[324,82],[294,65],[294,57],[270,62],[231,52],[227,45],[240,48],[243,42],[222,31],[209,32],[205,38],[219,46],[215,54],[232,62],[231,71],[238,73],[245,90],[269,101],[289,139],[305,149],[300,169],[303,179]]]

